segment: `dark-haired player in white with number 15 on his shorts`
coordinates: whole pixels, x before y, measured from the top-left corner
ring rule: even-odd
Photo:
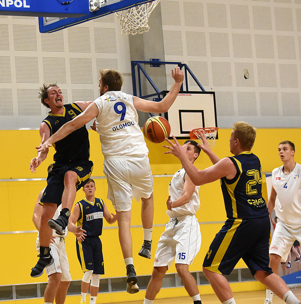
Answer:
[[[187,140],[186,154],[191,163],[198,158],[200,148],[196,141]],[[144,304],[152,304],[160,291],[165,272],[175,259],[177,273],[194,304],[201,304],[194,277],[188,270],[201,246],[200,225],[195,212],[200,208],[199,189],[182,167],[168,187],[167,215],[169,222],[161,235],[155,254],[154,270],[146,288]]]

